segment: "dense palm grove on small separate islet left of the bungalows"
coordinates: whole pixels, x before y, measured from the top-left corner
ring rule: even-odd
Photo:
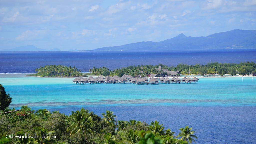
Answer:
[[[38,71],[34,76],[41,77],[77,77],[84,76],[81,70],[78,70],[76,67],[67,67],[62,65],[47,65],[45,67],[40,66],[36,68],[35,71]]]

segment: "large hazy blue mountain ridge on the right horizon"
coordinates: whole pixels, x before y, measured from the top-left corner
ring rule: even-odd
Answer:
[[[137,51],[137,50],[196,50],[256,48],[256,30],[234,29],[209,36],[191,37],[179,34],[161,42],[138,42],[122,46],[94,49],[92,51]]]

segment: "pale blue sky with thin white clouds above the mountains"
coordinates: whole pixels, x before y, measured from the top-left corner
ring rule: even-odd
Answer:
[[[0,0],[0,50],[66,51],[256,30],[256,0]]]

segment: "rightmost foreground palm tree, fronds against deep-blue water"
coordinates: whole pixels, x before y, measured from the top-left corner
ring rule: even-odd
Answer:
[[[185,128],[180,128],[179,130],[181,131],[177,136],[181,137],[179,140],[185,140],[189,143],[192,143],[192,140],[195,141],[193,138],[197,139],[197,136],[193,135],[196,131],[192,131],[192,127],[189,128],[188,126],[186,126]]]

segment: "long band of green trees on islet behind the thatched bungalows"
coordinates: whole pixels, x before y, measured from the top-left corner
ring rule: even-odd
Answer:
[[[250,75],[256,71],[256,64],[254,62],[241,62],[239,64],[236,63],[207,63],[205,65],[195,64],[195,65],[187,65],[187,64],[178,64],[176,67],[163,64],[158,65],[137,65],[137,66],[128,66],[119,69],[110,70],[107,67],[96,68],[93,67],[90,69],[92,74],[94,75],[103,75],[103,76],[114,76],[117,75],[119,77],[124,74],[132,75],[132,76],[147,76],[150,74],[157,74],[159,77],[167,75],[167,73],[163,70],[158,70],[158,67],[161,66],[162,69],[168,69],[169,71],[179,71],[181,75],[201,75],[201,76],[210,76],[210,75],[220,75],[225,76],[225,74],[229,75]]]

